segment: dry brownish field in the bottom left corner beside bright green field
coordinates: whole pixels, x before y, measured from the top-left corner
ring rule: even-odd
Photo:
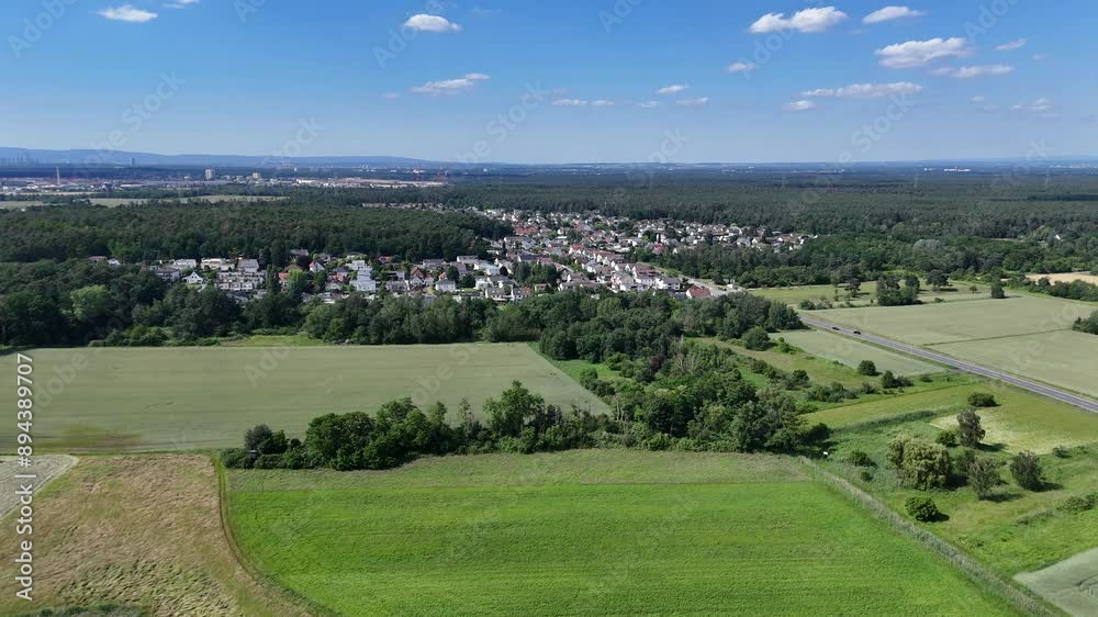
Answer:
[[[37,494],[34,506],[36,607],[111,603],[154,616],[301,614],[236,561],[206,457],[83,458]],[[12,516],[0,540],[14,550]],[[11,576],[0,586],[0,614],[30,610],[15,597]]]

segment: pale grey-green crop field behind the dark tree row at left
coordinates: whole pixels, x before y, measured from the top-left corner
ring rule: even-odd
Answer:
[[[303,436],[325,413],[374,411],[411,397],[478,412],[514,380],[546,401],[604,403],[524,344],[388,347],[40,349],[34,420],[40,451],[189,450],[239,446],[259,423]],[[75,358],[81,361],[75,362]],[[14,357],[0,371],[14,374]],[[82,369],[74,369],[74,364]],[[55,375],[56,373],[56,375]],[[67,379],[66,379],[67,378]],[[54,381],[56,380],[56,381]],[[14,396],[14,388],[3,396]],[[14,401],[3,399],[10,408]],[[14,423],[0,442],[14,444]]]

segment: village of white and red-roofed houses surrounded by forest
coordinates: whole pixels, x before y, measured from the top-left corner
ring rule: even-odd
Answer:
[[[276,284],[300,293],[303,302],[317,300],[328,304],[350,294],[370,298],[379,293],[449,295],[459,301],[484,298],[504,303],[557,290],[598,289],[698,299],[741,290],[735,281],[716,285],[684,279],[638,261],[637,256],[676,254],[703,245],[796,250],[814,237],[717,223],[637,221],[594,213],[474,212],[508,223],[514,234],[490,240],[483,256],[462,255],[453,259],[412,262],[396,256],[336,257],[294,248],[289,250],[290,265],[278,271],[250,257],[179,258],[145,267],[169,283],[214,285],[240,303],[262,298]],[[90,259],[117,263],[105,257]]]

